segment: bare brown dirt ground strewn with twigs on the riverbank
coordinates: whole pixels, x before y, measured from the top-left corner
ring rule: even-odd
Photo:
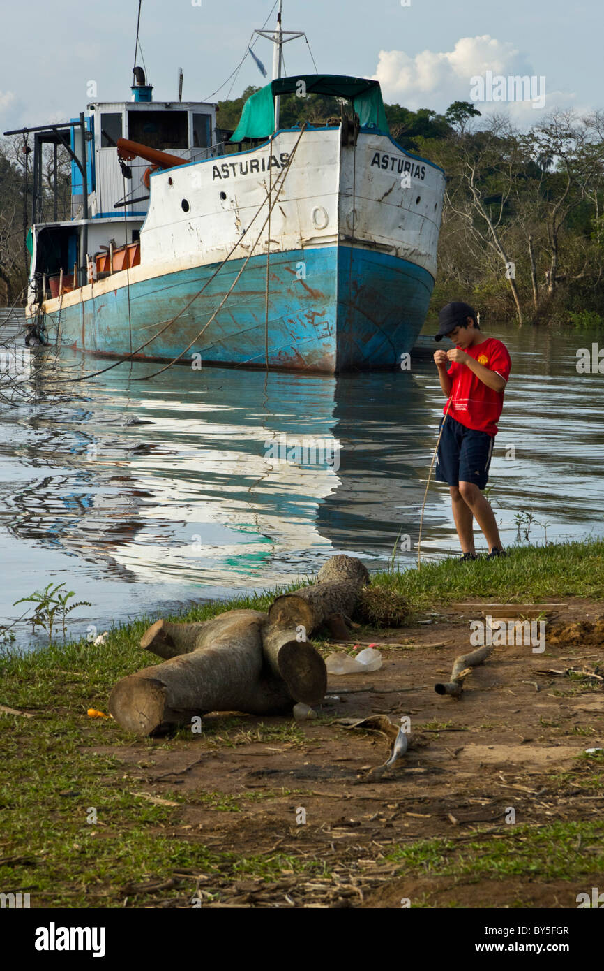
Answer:
[[[456,655],[472,650],[470,619],[483,612],[543,619],[542,610],[544,653],[497,647],[466,679],[460,701],[435,693],[435,682],[449,680]],[[477,886],[471,873],[418,877],[416,868],[415,876],[400,876],[392,851],[433,837],[461,851],[479,834],[509,838],[510,807],[517,824],[600,819],[602,790],[581,785],[582,773],[593,776],[594,766],[577,756],[604,746],[602,615],[602,605],[575,598],[532,612],[518,604],[449,606],[414,626],[368,637],[364,631],[361,646],[379,645],[382,668],[330,676],[328,693],[339,700],[317,709],[318,720],[210,715],[204,735],[176,739],[171,749],[160,738],[151,749],[141,743],[95,751],[124,762],[124,785],[133,790],[160,798],[182,793],[186,801],[164,835],[246,857],[278,852],[327,864],[329,876],[321,878],[284,868],[277,880],[242,875],[235,883],[232,874],[222,879],[176,868],[182,906],[190,906],[197,886],[207,907],[383,908],[400,907],[402,897],[411,906],[576,907],[578,889],[598,884],[595,866],[582,876],[585,887],[544,882],[538,873],[534,880],[493,875]],[[334,720],[374,713],[396,723],[408,716],[410,744],[392,770],[366,780],[367,770],[388,757],[390,741]],[[305,822],[297,822],[301,809]],[[581,838],[571,850],[589,859]],[[164,901],[165,887],[150,881],[132,890],[146,893],[138,906],[178,906],[174,897]]]

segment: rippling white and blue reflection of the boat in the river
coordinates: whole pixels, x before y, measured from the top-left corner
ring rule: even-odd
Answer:
[[[411,374],[121,370],[21,452],[38,481],[13,497],[16,537],[164,599],[291,582],[334,549],[384,565],[400,529],[416,538],[429,435]]]

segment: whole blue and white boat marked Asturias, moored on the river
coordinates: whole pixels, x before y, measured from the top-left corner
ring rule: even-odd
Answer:
[[[444,174],[397,145],[377,82],[281,78],[280,12],[272,39],[275,77],[228,142],[215,105],[153,102],[138,69],[133,102],[39,130],[36,151],[69,132],[73,205],[71,220],[34,213],[32,325],[80,351],[194,366],[335,373],[411,350]],[[341,99],[341,117],[280,127],[292,92]]]

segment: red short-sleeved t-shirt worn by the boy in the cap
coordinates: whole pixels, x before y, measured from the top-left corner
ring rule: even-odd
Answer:
[[[496,371],[505,381],[510,376],[512,362],[507,348],[501,341],[488,337],[482,344],[474,344],[465,352],[484,364],[490,371]],[[486,431],[488,435],[497,434],[497,421],[503,408],[503,391],[493,391],[478,378],[466,364],[453,361],[447,374],[453,381],[449,415],[466,428]],[[443,411],[446,411],[446,406]]]

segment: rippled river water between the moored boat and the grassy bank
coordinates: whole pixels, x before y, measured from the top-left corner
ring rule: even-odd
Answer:
[[[532,543],[601,535],[604,375],[577,371],[597,335],[490,333],[513,362],[490,478],[504,544],[519,526]],[[398,536],[396,565],[412,566],[444,402],[435,347],[421,338],[410,370],[340,378],[173,367],[138,382],[157,365],[120,365],[71,401],[3,407],[0,622],[48,583],[91,602],[70,621],[79,637],[290,583],[334,552],[384,568]],[[429,486],[422,550],[459,554],[447,486]],[[15,630],[31,641],[24,622]]]

